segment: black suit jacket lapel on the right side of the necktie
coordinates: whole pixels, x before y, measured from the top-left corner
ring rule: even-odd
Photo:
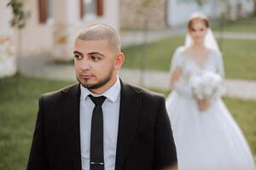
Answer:
[[[129,85],[121,82],[119,131],[115,169],[122,169],[131,143],[137,131],[141,110],[141,96]]]

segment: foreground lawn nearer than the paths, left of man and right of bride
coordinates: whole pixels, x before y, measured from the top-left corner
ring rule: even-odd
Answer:
[[[28,77],[0,79],[0,169],[26,168],[38,97],[40,94],[67,86],[72,82],[57,82]],[[158,91],[158,90],[155,90]],[[167,94],[167,91],[161,91]],[[225,98],[256,155],[256,101]]]

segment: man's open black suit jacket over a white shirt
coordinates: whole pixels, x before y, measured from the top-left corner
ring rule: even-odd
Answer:
[[[40,97],[28,170],[81,170],[79,98],[79,84]],[[115,169],[176,163],[164,97],[121,82]]]

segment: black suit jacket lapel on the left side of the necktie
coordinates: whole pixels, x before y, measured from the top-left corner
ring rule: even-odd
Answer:
[[[79,84],[62,90],[60,99],[61,127],[67,139],[67,148],[77,170],[81,169],[79,104]]]

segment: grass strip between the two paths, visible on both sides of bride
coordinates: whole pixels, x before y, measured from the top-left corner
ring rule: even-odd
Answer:
[[[175,48],[183,44],[184,37],[166,37],[158,42],[123,49],[124,67],[169,71]],[[218,40],[224,54],[225,75],[229,78],[256,80],[256,40]]]

